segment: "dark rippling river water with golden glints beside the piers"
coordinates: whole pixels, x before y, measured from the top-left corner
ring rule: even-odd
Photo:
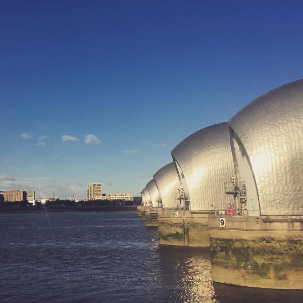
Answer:
[[[303,302],[212,282],[207,249],[160,247],[135,213],[0,215],[0,302]]]

